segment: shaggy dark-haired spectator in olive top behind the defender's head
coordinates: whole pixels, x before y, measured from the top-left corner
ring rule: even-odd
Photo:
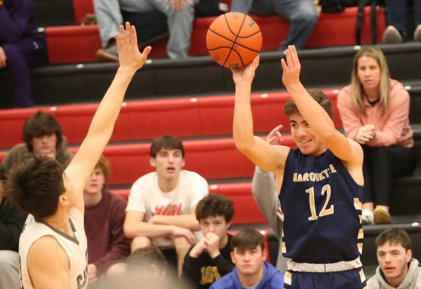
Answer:
[[[56,118],[47,112],[38,111],[27,118],[22,140],[25,143],[16,144],[3,159],[2,165],[6,172],[31,154],[55,158],[64,167],[72,161],[73,154],[67,150],[67,139],[63,135],[63,128]]]

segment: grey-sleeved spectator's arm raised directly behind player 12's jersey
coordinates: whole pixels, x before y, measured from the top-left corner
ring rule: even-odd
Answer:
[[[275,189],[274,174],[256,166],[251,191],[260,211],[269,221],[269,224],[278,239],[281,240],[282,221],[276,214],[278,207],[280,206],[280,202]]]

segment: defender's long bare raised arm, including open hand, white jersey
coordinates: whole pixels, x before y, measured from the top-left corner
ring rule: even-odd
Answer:
[[[151,50],[151,47],[148,46],[143,53],[140,53],[137,46],[136,29],[128,22],[126,22],[126,32],[123,25],[120,26],[120,35],[120,37],[115,35],[120,67],[93,116],[88,134],[65,171],[77,196],[75,207],[82,212],[85,183],[111,137],[126,89],[136,70],[142,67]]]

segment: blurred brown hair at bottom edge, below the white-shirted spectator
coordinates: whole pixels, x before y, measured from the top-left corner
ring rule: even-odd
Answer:
[[[156,247],[139,248],[133,251],[127,259],[127,266],[129,270],[139,267],[148,267],[156,265],[160,272],[167,268],[167,261],[160,249]]]

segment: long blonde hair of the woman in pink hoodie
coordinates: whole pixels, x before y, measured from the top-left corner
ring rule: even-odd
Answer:
[[[387,67],[386,57],[383,52],[378,49],[376,46],[366,46],[362,47],[354,57],[354,64],[351,72],[351,99],[354,105],[358,110],[365,115],[365,106],[362,102],[362,94],[364,89],[360,78],[358,78],[358,59],[362,56],[372,57],[376,59],[378,66],[380,67],[380,102],[383,104],[383,112],[389,107],[389,93],[390,93],[390,83],[389,83],[389,67]]]

